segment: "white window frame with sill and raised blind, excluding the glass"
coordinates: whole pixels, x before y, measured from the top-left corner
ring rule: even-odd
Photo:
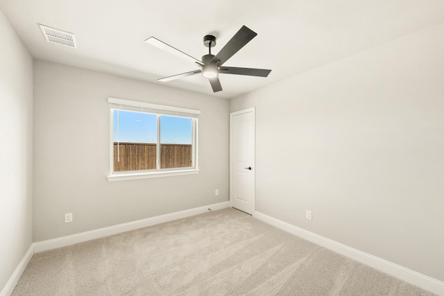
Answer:
[[[123,98],[108,98],[110,103],[110,174],[108,181],[122,181],[145,179],[151,177],[171,177],[177,175],[192,175],[199,173],[198,169],[198,115],[200,110],[157,105],[140,101],[131,101]],[[143,112],[157,114],[157,143],[160,143],[160,116],[180,116],[191,118],[191,167],[188,168],[160,168],[160,144],[157,145],[156,169],[141,171],[114,172],[114,110]]]

